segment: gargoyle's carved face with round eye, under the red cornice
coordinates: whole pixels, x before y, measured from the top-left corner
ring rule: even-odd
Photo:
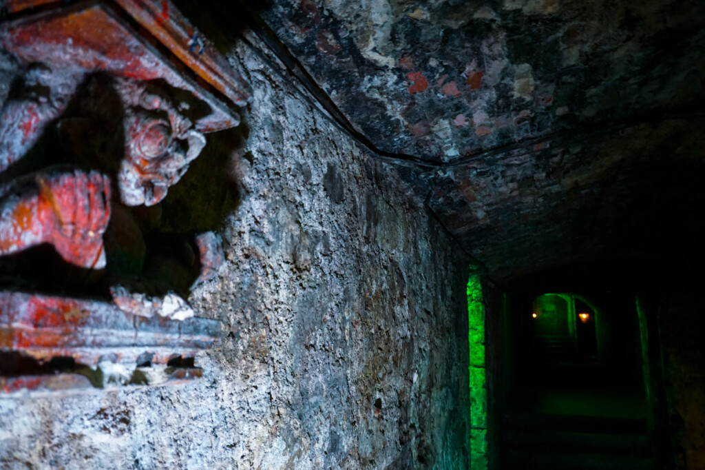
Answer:
[[[125,157],[118,171],[125,205],[154,205],[166,197],[206,145],[204,135],[165,97],[145,91],[125,112]]]

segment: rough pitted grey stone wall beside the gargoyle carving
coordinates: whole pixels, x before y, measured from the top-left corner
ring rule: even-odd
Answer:
[[[2,397],[0,468],[467,468],[463,256],[396,169],[233,58],[244,128],[164,205],[175,231],[221,219],[226,265],[190,298],[223,322],[204,378]]]

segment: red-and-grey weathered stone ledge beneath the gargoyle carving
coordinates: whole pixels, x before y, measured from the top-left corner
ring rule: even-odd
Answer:
[[[124,361],[145,349],[157,358],[174,350],[193,356],[219,331],[219,322],[206,318],[137,318],[102,301],[0,292],[0,351],[26,351],[37,359],[69,356],[94,364],[116,349]]]

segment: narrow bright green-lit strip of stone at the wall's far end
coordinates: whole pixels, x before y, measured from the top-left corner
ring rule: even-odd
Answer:
[[[467,281],[470,340],[470,457],[472,470],[487,469],[487,388],[485,367],[485,309],[480,276]]]

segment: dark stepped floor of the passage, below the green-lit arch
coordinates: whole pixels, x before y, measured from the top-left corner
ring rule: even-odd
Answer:
[[[655,469],[638,374],[544,365],[512,390],[501,469]]]

